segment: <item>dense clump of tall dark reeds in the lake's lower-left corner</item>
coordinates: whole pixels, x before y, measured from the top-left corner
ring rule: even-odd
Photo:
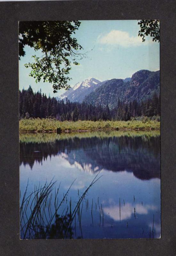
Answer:
[[[52,193],[56,181],[53,182],[53,180],[51,180],[49,184],[45,182],[43,186],[40,186],[40,184],[38,187],[35,186],[34,191],[29,195],[27,183],[20,205],[20,238],[72,238],[72,222],[73,220],[76,222],[76,214],[78,214],[79,227],[81,230],[83,199],[93,184],[101,178],[101,176],[99,178],[97,177],[98,174],[94,177],[88,188],[85,189],[84,193],[79,196],[76,205],[73,207],[72,199],[70,197],[69,207],[62,212],[61,205],[68,196],[69,190],[75,180],[72,182],[67,192],[62,196],[60,203],[59,188],[57,190],[55,189],[54,193]]]

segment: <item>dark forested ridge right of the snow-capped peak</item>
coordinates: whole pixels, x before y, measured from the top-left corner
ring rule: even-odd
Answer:
[[[136,100],[146,100],[152,95],[160,93],[160,71],[139,70],[132,75],[130,81],[123,79],[111,79],[101,87],[95,89],[84,98],[84,102],[92,105],[101,104],[110,109],[118,104],[118,100],[124,103]]]

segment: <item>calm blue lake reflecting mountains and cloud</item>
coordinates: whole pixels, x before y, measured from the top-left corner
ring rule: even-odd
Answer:
[[[159,131],[20,135],[21,202],[27,183],[26,196],[53,179],[51,195],[59,188],[58,205],[65,196],[58,210],[61,217],[74,210],[97,174],[100,179],[84,196],[65,238],[159,238]],[[40,218],[54,214],[54,201],[47,204],[45,209],[50,209]],[[35,236],[34,228],[30,235],[22,230],[31,215],[29,208],[21,218],[21,239],[51,238]],[[60,238],[57,228],[53,226],[52,238]]]

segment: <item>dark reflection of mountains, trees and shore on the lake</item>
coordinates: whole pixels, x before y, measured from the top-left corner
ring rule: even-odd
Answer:
[[[89,135],[89,136],[88,136]],[[51,139],[48,139],[51,137]],[[33,168],[59,156],[79,170],[132,172],[141,180],[160,178],[159,132],[96,132],[64,135],[21,135],[20,164]]]

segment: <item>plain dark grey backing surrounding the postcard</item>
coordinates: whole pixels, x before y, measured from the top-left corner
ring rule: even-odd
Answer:
[[[161,239],[20,240],[19,238],[19,20],[160,19]],[[176,255],[176,1],[0,2],[0,254]],[[85,31],[86,33],[86,31]]]

